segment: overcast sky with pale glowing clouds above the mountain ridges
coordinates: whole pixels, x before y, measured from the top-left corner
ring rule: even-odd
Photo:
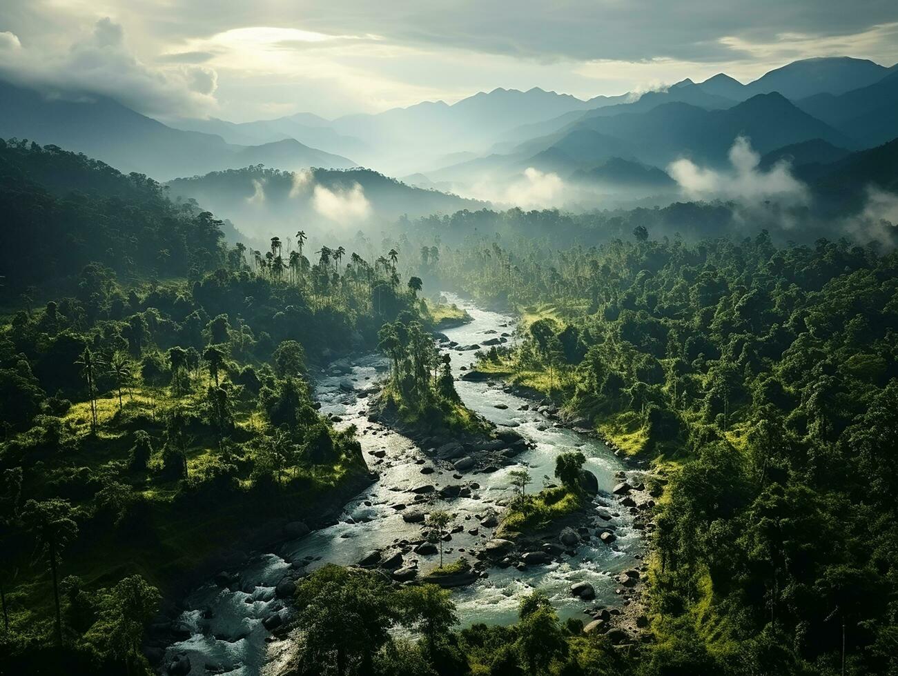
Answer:
[[[2,0],[0,77],[159,119],[586,99],[798,58],[898,61],[894,0]]]

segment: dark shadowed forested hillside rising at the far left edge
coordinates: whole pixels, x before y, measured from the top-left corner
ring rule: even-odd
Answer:
[[[88,263],[126,279],[187,277],[224,260],[221,222],[175,206],[142,174],[24,141],[0,139],[0,268],[11,290],[67,282]],[[101,280],[98,280],[101,283]],[[92,283],[84,293],[100,292]]]

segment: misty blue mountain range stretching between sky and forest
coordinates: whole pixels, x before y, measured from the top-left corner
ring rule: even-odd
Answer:
[[[807,180],[850,152],[898,136],[898,71],[849,57],[796,61],[751,83],[718,74],[589,100],[539,88],[495,89],[452,104],[425,101],[333,120],[297,113],[163,124],[110,98],[58,94],[0,83],[0,136],[61,145],[159,180],[259,164],[285,171],[361,164],[408,174],[409,185],[394,191],[414,185],[484,195],[471,188],[519,179],[533,167],[578,185],[651,195],[671,188],[663,168],[676,159],[726,166],[737,136],[764,155],[762,168],[788,159]],[[378,171],[357,174],[365,195],[378,184],[374,176],[385,178]],[[425,192],[427,199],[405,198],[436,211],[463,203]],[[374,211],[394,214],[387,204]]]

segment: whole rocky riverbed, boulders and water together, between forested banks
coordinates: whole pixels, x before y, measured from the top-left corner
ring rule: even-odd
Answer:
[[[452,356],[462,400],[489,420],[495,438],[429,439],[416,433],[413,441],[369,419],[370,400],[386,372],[382,357],[330,364],[315,388],[321,411],[338,427],[357,426],[377,480],[332,522],[311,524],[317,528],[287,524],[277,547],[251,553],[240,566],[199,585],[180,603],[173,640],[156,655],[160,672],[268,672],[290,651],[284,628],[295,579],[325,563],[378,568],[397,584],[427,580],[452,587],[462,624],[514,622],[521,598],[534,588],[550,596],[562,619],[583,619],[590,631],[608,631],[612,618],[626,617],[645,573],[642,534],[651,528],[651,498],[639,490],[645,472],[629,467],[588,430],[574,429],[576,421],[561,420],[550,403],[526,399],[499,382],[461,380],[462,367],[467,370],[473,360],[471,347],[512,340],[514,320],[450,300],[469,312],[471,322],[445,329],[442,345]],[[512,496],[508,472],[525,467],[538,489],[553,482],[558,453],[574,449],[585,454],[585,469],[595,478],[593,504],[577,522],[544,537],[508,543],[497,538]],[[626,489],[619,487],[622,482]],[[442,579],[431,575],[439,565],[439,547],[427,524],[433,509],[453,515],[441,539],[445,564],[455,566]],[[637,620],[630,622],[634,633]],[[628,636],[612,638],[621,642]]]

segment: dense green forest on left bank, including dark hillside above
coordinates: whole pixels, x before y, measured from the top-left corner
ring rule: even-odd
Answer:
[[[144,669],[156,587],[370,480],[354,430],[316,411],[306,351],[435,317],[395,251],[340,274],[343,247],[310,263],[302,232],[228,247],[145,177],[53,146],[3,156],[0,645],[20,673]]]

